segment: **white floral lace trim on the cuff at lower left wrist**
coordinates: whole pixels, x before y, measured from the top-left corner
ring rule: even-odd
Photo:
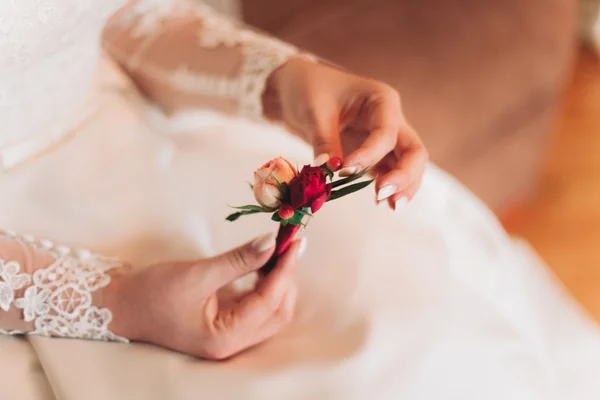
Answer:
[[[0,231],[0,236],[56,259],[33,275],[20,273],[21,265],[15,261],[0,259],[0,308],[8,311],[12,305],[23,310],[23,319],[33,321],[35,326],[33,331],[0,330],[0,333],[128,342],[108,330],[112,320],[110,310],[92,305],[92,293],[110,283],[107,272],[121,266],[120,262],[87,250],[55,246],[51,241],[28,235]],[[16,291],[24,288],[23,297],[16,298]]]

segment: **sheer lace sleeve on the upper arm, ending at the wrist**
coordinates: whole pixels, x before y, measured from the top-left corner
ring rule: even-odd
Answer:
[[[109,21],[109,53],[167,111],[210,107],[262,118],[268,76],[297,53],[197,0],[137,0]]]

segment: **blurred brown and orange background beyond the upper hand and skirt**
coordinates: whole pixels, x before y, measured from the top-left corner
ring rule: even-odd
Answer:
[[[600,0],[207,0],[403,96],[434,162],[600,321]]]

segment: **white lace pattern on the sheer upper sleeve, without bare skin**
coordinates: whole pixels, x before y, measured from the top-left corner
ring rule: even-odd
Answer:
[[[297,54],[297,50],[278,40],[240,28],[210,7],[187,0],[140,0],[120,18],[118,24],[121,27],[129,26],[132,38],[152,41],[162,33],[162,24],[182,18],[202,21],[202,28],[195,33],[200,48],[228,48],[241,53],[243,61],[236,77],[226,78],[193,71],[185,60],[171,69],[153,65],[148,62],[154,55],[152,45],[148,42],[140,46],[139,52],[122,57],[124,60],[121,61],[129,68],[141,69],[147,77],[165,82],[180,92],[237,100],[241,115],[261,119],[262,94],[268,76],[291,55]]]

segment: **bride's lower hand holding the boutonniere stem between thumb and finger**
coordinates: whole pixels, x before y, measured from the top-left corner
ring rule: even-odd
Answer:
[[[275,236],[265,235],[214,258],[152,265],[124,274],[109,286],[111,329],[132,340],[153,343],[208,359],[225,359],[277,333],[293,317],[296,261],[305,242],[297,240],[272,273],[233,302],[217,291],[257,271],[271,257]]]

